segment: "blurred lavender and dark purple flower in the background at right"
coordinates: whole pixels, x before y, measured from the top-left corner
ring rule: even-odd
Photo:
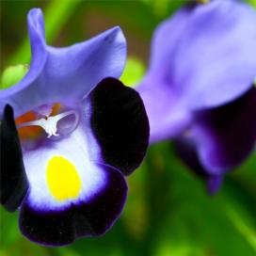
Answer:
[[[150,68],[136,88],[151,142],[175,138],[210,193],[255,142],[255,23],[255,10],[238,1],[182,8],[157,27]]]

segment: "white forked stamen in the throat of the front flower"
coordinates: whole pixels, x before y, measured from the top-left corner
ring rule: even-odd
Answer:
[[[72,126],[70,127],[70,132],[72,132],[79,121],[79,116],[78,113],[74,110],[70,110],[64,113],[61,113],[59,115],[56,115],[54,117],[49,117],[48,119],[40,119],[40,120],[32,120],[32,121],[28,121],[28,122],[24,122],[21,123],[20,125],[18,125],[18,128],[21,127],[25,127],[25,126],[40,126],[47,134],[48,134],[48,138],[51,136],[59,136],[59,134],[57,134],[57,127],[56,124],[59,120],[62,120],[63,118],[67,117],[67,116],[71,116],[74,115],[74,121],[72,122]]]

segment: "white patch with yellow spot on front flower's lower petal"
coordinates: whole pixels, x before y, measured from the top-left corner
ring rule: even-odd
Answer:
[[[91,200],[95,193],[102,190],[105,185],[105,175],[104,171],[95,167],[92,162],[94,159],[90,156],[91,152],[97,153],[96,151],[99,149],[89,132],[87,127],[79,125],[70,135],[58,136],[56,139],[45,138],[40,142],[38,148],[24,152],[24,167],[30,184],[28,200],[34,208],[61,210],[69,207],[72,203],[78,203],[81,199],[83,201]],[[57,176],[61,166],[72,166],[71,171],[63,168],[61,180],[59,178],[58,184],[65,186],[67,192],[67,195],[60,195],[60,200],[57,200],[59,199],[56,195],[58,191],[55,193],[50,189],[52,181],[47,176],[51,161],[55,161],[58,157],[63,160],[61,161],[63,165],[61,163],[53,165],[58,168],[56,172],[51,171],[52,174],[56,173]],[[68,172],[66,173],[64,170]],[[73,188],[66,184],[65,179],[69,177],[74,182]],[[72,195],[73,197],[70,197]],[[77,197],[78,195],[79,197]]]

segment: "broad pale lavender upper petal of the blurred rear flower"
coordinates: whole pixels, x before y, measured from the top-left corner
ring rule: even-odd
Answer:
[[[148,74],[190,109],[232,101],[256,74],[255,23],[255,10],[238,1],[183,8],[156,29]]]

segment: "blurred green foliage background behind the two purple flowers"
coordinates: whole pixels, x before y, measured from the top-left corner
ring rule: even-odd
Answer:
[[[250,1],[255,5],[256,1]],[[254,2],[254,3],[253,3]],[[1,1],[1,72],[29,63],[26,14],[43,9],[49,44],[65,46],[120,25],[128,41],[121,79],[130,86],[146,70],[152,32],[180,8],[180,0]],[[0,256],[253,256],[256,255],[256,154],[228,174],[214,197],[185,168],[171,142],[153,145],[128,177],[123,214],[104,236],[65,248],[43,248],[19,232],[17,214],[0,209]]]

